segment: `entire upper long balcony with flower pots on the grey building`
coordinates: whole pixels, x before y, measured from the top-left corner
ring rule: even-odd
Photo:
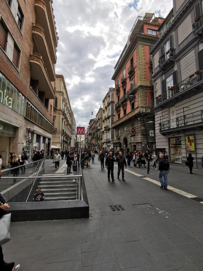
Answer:
[[[191,74],[187,79],[172,86],[165,93],[157,96],[156,106],[164,106],[167,103],[167,107],[172,106],[177,102],[177,98],[188,98],[191,95],[197,94],[202,91],[203,87],[203,70],[197,70]]]

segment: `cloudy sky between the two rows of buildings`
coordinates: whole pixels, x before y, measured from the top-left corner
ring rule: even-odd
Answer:
[[[138,15],[166,17],[172,0],[54,0],[59,42],[56,74],[63,74],[77,126],[102,106],[115,64]],[[93,111],[94,115],[91,115]],[[85,114],[87,113],[87,114]],[[83,115],[81,115],[83,114]],[[81,115],[81,116],[78,116]]]

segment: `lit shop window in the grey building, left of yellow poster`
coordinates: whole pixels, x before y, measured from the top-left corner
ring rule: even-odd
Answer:
[[[182,143],[181,137],[170,138],[170,162],[182,165]]]

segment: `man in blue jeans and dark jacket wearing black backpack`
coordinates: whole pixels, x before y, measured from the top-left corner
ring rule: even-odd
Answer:
[[[159,181],[161,183],[160,188],[164,188],[164,189],[168,189],[168,173],[169,173],[169,162],[167,159],[164,158],[163,154],[159,155],[159,163],[158,163],[158,170],[159,170]],[[164,176],[164,181],[162,179],[162,177]]]

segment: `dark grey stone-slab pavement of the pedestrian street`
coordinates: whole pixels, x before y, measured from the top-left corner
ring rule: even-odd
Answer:
[[[143,175],[146,170],[128,169]],[[127,171],[126,182],[109,182],[97,159],[83,173],[89,219],[11,223],[5,260],[15,260],[26,271],[203,270],[203,204]],[[117,177],[116,166],[114,173]],[[176,185],[177,174],[170,174],[169,184]],[[195,174],[183,181],[195,184]],[[124,210],[112,211],[109,205]]]

